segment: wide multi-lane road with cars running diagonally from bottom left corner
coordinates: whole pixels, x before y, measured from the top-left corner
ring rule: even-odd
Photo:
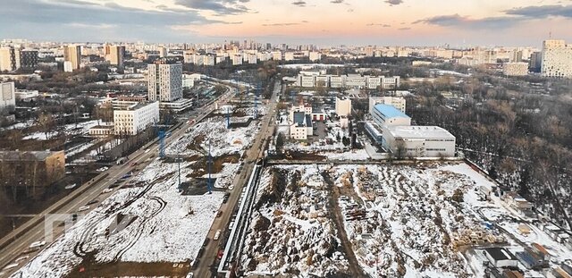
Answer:
[[[225,94],[223,94],[223,96],[219,97],[219,100],[227,101],[231,97],[231,92],[232,90],[229,89]],[[207,114],[210,114],[213,110],[214,110],[214,105],[207,105],[206,107],[202,107],[198,109],[197,112],[193,112],[192,114],[193,116],[196,116],[197,120],[196,122],[200,122],[200,120],[202,120]],[[165,138],[165,146],[168,146],[168,144],[172,141],[180,139],[185,134],[185,131],[189,128],[189,126],[193,124],[195,123],[184,122],[179,129],[172,131],[171,136]],[[149,151],[146,152],[147,148],[149,149]],[[61,200],[66,202],[66,204],[63,205],[61,208],[54,210],[54,207],[57,205],[56,203],[54,206],[50,206],[44,212],[38,214],[37,217],[42,218],[39,223],[31,225],[29,228],[27,228],[27,231],[24,232],[20,237],[13,240],[12,243],[10,243],[4,249],[1,250],[0,269],[4,268],[5,265],[12,264],[16,258],[21,257],[21,252],[27,249],[31,243],[38,240],[44,240],[44,235],[45,235],[44,217],[46,215],[87,214],[90,211],[90,209],[78,213],[78,208],[80,208],[80,206],[86,206],[86,204],[94,198],[97,198],[99,202],[101,202],[105,198],[109,197],[113,193],[103,194],[102,191],[109,188],[115,181],[121,179],[122,176],[125,175],[126,173],[132,172],[134,167],[131,167],[130,164],[137,163],[138,164],[137,168],[143,169],[145,166],[147,166],[147,164],[149,164],[153,160],[152,157],[157,156],[157,154],[158,154],[158,144],[153,142],[148,143],[146,146],[141,147],[139,150],[132,153],[129,156],[130,157],[129,161],[126,162],[125,164],[114,165],[110,167],[105,173],[103,173],[107,174],[108,176],[102,181],[91,184],[90,183],[83,184],[79,189],[76,189],[76,190],[83,190],[84,187],[88,187],[88,189],[85,190],[85,192],[81,193],[77,198],[71,198],[70,200],[67,199]],[[92,205],[91,208],[95,206],[97,205]],[[63,233],[63,227],[56,227],[54,229],[54,238],[60,236],[62,233]],[[11,234],[9,234],[7,237],[9,240],[13,238]],[[22,259],[19,262],[19,266],[25,265],[31,258],[35,257],[37,254],[38,251],[30,253],[29,258]],[[16,271],[18,268],[19,267],[14,268],[12,271],[4,271],[4,275],[0,274],[0,277],[8,276],[9,274]]]

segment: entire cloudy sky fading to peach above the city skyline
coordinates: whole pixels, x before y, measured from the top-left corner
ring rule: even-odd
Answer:
[[[572,41],[572,0],[1,0],[0,38],[318,46]]]

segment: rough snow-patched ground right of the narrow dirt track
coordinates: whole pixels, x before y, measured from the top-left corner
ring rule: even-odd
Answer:
[[[340,203],[357,260],[373,276],[483,277],[486,258],[470,250],[489,242],[513,253],[540,243],[557,261],[572,259],[572,250],[552,240],[541,224],[494,195],[482,198],[481,187],[495,184],[467,164],[342,165],[330,173],[347,193]],[[526,235],[518,229],[523,223],[530,229]],[[465,236],[476,242],[463,241]],[[460,247],[473,254],[468,262]]]

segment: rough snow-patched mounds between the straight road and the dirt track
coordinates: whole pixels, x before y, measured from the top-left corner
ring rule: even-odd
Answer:
[[[348,261],[338,250],[327,195],[317,166],[265,169],[241,257],[247,276],[346,273]]]

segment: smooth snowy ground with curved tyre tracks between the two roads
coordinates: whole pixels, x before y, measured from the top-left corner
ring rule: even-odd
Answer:
[[[182,165],[181,175],[189,173],[188,165]],[[130,181],[136,186],[116,190],[24,265],[23,277],[62,277],[80,264],[86,252],[94,252],[95,260],[100,263],[195,259],[223,202],[223,192],[181,196],[177,191],[176,171],[173,164],[156,159]],[[124,229],[105,237],[105,229],[120,214],[135,218]]]

